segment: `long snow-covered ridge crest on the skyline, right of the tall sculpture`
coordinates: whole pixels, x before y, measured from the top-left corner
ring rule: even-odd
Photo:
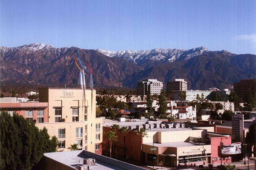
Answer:
[[[161,61],[161,62],[174,62],[187,60],[195,56],[199,56],[209,51],[205,47],[192,48],[190,50],[183,49],[162,49],[154,48],[152,50],[142,50],[142,51],[107,51],[102,49],[97,49],[96,51],[105,54],[108,57],[117,57],[125,59],[129,62],[141,65],[141,63],[146,60],[150,61]]]

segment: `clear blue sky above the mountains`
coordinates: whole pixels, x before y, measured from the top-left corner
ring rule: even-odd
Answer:
[[[255,0],[0,0],[0,46],[256,54]]]

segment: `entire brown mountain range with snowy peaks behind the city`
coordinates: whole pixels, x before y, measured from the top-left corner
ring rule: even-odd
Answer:
[[[209,51],[205,47],[106,51],[32,43],[15,48],[0,46],[1,84],[77,87],[76,51],[83,65],[89,63],[95,74],[94,87],[99,88],[136,88],[140,79],[158,79],[166,85],[180,78],[188,82],[188,89],[222,89],[230,88],[240,79],[256,78],[256,55],[253,54]]]

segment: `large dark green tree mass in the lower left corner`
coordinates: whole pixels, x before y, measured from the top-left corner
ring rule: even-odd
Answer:
[[[46,152],[55,152],[57,138],[49,139],[47,130],[38,130],[16,113],[0,114],[0,169],[31,170]]]

